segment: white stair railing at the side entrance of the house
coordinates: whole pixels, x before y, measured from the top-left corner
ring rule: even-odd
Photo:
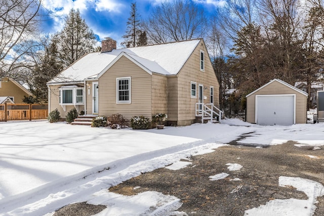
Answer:
[[[206,119],[210,119],[211,122],[213,122],[213,120],[217,118],[216,116],[218,116],[219,122],[221,122],[223,117],[223,112],[215,107],[214,104],[196,103],[195,111],[196,116],[201,117],[201,123],[204,123],[205,116],[207,116]]]

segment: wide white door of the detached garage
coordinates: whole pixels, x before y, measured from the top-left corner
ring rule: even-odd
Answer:
[[[256,121],[261,125],[292,125],[295,110],[294,95],[256,96]]]

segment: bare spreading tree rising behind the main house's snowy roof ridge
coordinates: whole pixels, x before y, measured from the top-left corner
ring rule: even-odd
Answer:
[[[157,6],[143,26],[149,42],[159,44],[205,36],[207,19],[194,1],[175,0]]]

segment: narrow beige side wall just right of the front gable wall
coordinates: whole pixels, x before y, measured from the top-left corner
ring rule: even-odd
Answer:
[[[152,74],[152,115],[168,114],[168,80],[164,75]]]

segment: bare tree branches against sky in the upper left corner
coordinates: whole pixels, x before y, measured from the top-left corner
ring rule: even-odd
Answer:
[[[41,0],[0,1],[0,78],[24,67],[26,55],[37,50]]]

